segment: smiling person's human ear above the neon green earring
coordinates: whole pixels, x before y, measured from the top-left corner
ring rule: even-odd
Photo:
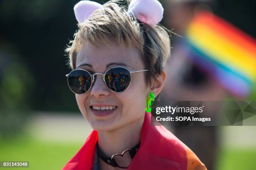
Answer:
[[[150,91],[153,92],[155,96],[159,95],[159,93],[163,89],[165,80],[166,71],[163,70],[161,74],[157,76],[156,80],[154,80],[152,86],[150,87]]]

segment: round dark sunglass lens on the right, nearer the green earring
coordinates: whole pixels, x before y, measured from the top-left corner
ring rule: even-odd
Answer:
[[[122,92],[128,88],[131,82],[131,73],[123,67],[115,67],[105,74],[105,82],[114,92]]]

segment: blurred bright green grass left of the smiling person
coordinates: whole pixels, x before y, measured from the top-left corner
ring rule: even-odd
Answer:
[[[0,142],[0,160],[29,161],[29,168],[22,170],[60,170],[81,146],[82,143],[69,145],[22,137]],[[2,169],[20,168],[0,168]]]

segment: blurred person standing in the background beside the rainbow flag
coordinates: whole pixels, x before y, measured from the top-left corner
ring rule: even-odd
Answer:
[[[166,0],[164,25],[184,36],[187,26],[200,10],[211,10],[210,0]],[[161,100],[218,101],[227,92],[210,75],[189,60],[179,42],[182,37],[174,35],[171,58],[166,63],[166,84]],[[215,108],[212,108],[213,110]],[[172,127],[174,134],[193,148],[208,170],[213,170],[218,149],[217,127]]]

